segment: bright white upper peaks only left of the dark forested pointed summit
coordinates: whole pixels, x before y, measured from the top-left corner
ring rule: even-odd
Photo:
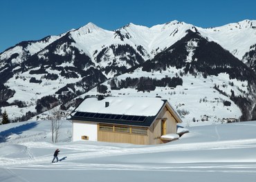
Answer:
[[[128,43],[134,48],[136,48],[136,45],[142,45],[149,54],[149,57],[145,58],[149,59],[184,37],[185,31],[192,27],[190,24],[178,21],[153,26],[152,28],[129,23],[118,30],[109,31],[103,30],[93,23],[88,23],[86,26],[72,31],[71,37],[75,40],[73,45],[83,50],[91,58],[97,55],[94,54],[95,50],[101,50],[102,47]],[[124,39],[120,39],[116,31],[120,31]]]

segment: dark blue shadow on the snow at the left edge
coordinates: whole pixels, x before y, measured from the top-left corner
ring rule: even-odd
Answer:
[[[10,128],[8,130],[4,130],[4,131],[0,132],[0,143],[6,142],[8,137],[12,134],[21,134],[22,132],[25,132],[26,130],[35,128],[35,126],[37,126],[36,122],[24,123],[24,125],[19,125],[15,128]]]

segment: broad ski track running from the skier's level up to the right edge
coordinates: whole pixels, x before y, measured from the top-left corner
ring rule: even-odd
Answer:
[[[52,154],[43,155],[35,157],[31,152],[30,148],[53,148],[54,145],[51,143],[30,143],[30,147],[26,147],[26,154],[28,154],[29,159],[8,159],[8,161],[2,162],[0,165],[7,165],[12,167],[12,165],[20,165],[20,168],[26,166],[45,166],[48,168],[48,165],[52,159]],[[158,146],[148,146],[142,148],[117,148],[110,146],[103,146],[91,148],[84,144],[77,145],[62,145],[60,146],[62,150],[71,150],[68,152],[62,152],[61,156],[68,156],[68,161],[79,160],[79,159],[91,159],[99,157],[109,157],[109,156],[119,156],[119,155],[130,155],[130,154],[152,154],[157,152],[182,152],[182,151],[193,151],[193,150],[223,150],[223,149],[243,149],[243,148],[256,148],[256,139],[244,139],[239,141],[214,141],[214,142],[205,142],[205,143],[183,143],[183,144],[173,144],[173,145],[158,145]],[[61,159],[62,157],[59,157]],[[0,158],[0,161],[1,158]],[[256,159],[255,161],[256,162]],[[61,161],[58,166],[62,166],[62,163],[66,161]],[[77,163],[69,163],[69,167],[75,168]],[[83,165],[83,164],[80,164]],[[86,164],[87,166],[87,164]],[[14,168],[14,167],[12,167]],[[17,168],[17,167],[16,167]]]

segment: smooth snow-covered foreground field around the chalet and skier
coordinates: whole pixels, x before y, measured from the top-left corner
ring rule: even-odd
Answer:
[[[185,123],[183,123],[185,124]],[[188,127],[161,145],[71,141],[62,121],[51,143],[50,121],[1,125],[0,181],[255,181],[256,121]],[[58,163],[51,163],[60,149]]]

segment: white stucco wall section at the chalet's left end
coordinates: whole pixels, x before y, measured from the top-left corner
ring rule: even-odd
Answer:
[[[89,141],[97,141],[98,125],[95,123],[73,122],[73,141],[81,141],[82,136],[89,136]]]

